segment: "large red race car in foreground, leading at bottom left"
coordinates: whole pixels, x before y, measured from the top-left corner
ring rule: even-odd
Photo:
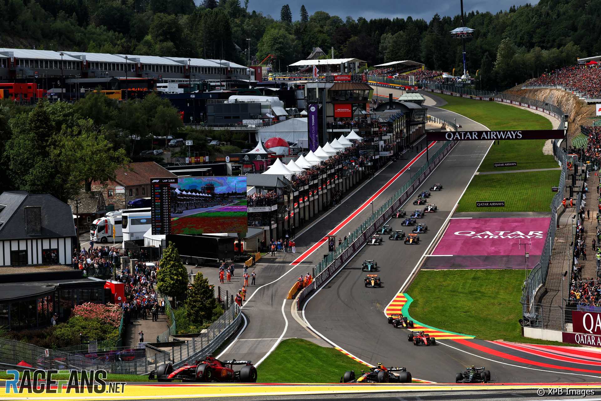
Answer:
[[[240,370],[234,370],[234,365],[244,365]],[[163,363],[148,375],[148,380],[168,382],[172,380],[195,382],[257,382],[257,368],[251,361],[219,361],[213,357],[206,357],[194,364],[173,369],[173,365]]]

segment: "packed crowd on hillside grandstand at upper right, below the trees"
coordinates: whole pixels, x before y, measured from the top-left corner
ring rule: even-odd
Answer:
[[[596,65],[570,65],[542,74],[526,85],[566,86],[584,92],[585,97],[597,98],[601,97],[601,70]]]

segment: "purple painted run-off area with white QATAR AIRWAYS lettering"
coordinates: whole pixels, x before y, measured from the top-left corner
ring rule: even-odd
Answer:
[[[545,246],[549,217],[451,219],[426,261],[431,269],[523,269],[534,267]]]

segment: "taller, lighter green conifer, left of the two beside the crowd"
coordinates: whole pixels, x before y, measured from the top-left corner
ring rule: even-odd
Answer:
[[[188,288],[188,270],[184,267],[177,248],[169,241],[160,259],[159,273],[156,275],[156,288],[169,297],[180,297]]]

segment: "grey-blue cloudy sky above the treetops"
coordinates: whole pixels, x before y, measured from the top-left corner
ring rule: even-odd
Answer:
[[[490,11],[496,13],[499,10],[507,10],[511,5],[522,5],[526,2],[536,4],[538,0],[464,0],[463,11]],[[243,1],[240,3],[244,4]],[[365,0],[299,0],[299,1],[273,1],[273,0],[250,0],[248,2],[248,11],[262,11],[263,14],[270,14],[273,18],[279,19],[279,10],[282,5],[289,4],[292,10],[293,20],[299,19],[301,4],[305,5],[309,14],[315,11],[326,11],[326,13],[337,15],[343,20],[350,15],[354,19],[364,17],[372,18],[406,18],[412,16],[413,19],[423,18],[430,21],[436,13],[441,16],[454,16],[460,13],[459,0],[379,0],[370,2]]]

